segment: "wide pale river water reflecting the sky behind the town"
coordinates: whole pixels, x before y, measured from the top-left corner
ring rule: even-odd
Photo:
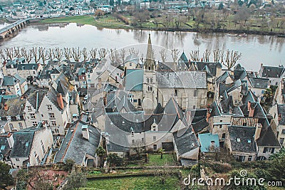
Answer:
[[[3,27],[4,25],[0,25]],[[227,33],[195,33],[138,31],[98,28],[95,26],[78,26],[76,23],[28,26],[14,38],[0,41],[0,48],[44,46],[80,47],[80,48],[122,48],[124,46],[147,43],[148,33],[152,44],[167,49],[177,48],[185,51],[190,58],[190,51],[199,48],[200,56],[206,50],[215,48],[233,50],[242,53],[238,61],[247,70],[259,70],[264,65],[285,65],[285,38],[277,36],[248,35],[247,37],[228,36]],[[145,51],[142,51],[145,53]],[[141,53],[140,53],[141,54]],[[159,53],[155,56],[159,58]],[[212,60],[210,58],[210,60]]]

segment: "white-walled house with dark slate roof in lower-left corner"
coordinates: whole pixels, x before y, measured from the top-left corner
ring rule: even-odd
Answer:
[[[38,123],[37,127],[29,127],[14,132],[10,159],[13,168],[37,166],[44,164],[48,152],[53,146],[51,129]]]

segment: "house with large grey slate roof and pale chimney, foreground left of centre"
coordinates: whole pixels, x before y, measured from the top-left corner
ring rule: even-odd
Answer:
[[[68,129],[61,147],[56,153],[54,162],[65,162],[73,159],[76,164],[83,167],[98,167],[96,149],[101,144],[101,132],[93,125],[88,124],[87,115],[73,122]]]

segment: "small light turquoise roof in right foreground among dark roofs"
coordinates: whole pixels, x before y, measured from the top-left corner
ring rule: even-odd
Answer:
[[[201,144],[200,150],[201,152],[210,152],[209,147],[215,146],[219,147],[219,135],[204,133],[198,134],[199,143]],[[214,144],[212,144],[214,142]]]

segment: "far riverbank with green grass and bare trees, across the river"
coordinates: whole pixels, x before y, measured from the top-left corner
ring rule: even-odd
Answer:
[[[184,32],[200,32],[200,33],[247,33],[257,34],[266,36],[283,36],[285,33],[276,31],[258,31],[258,30],[247,30],[247,29],[233,29],[233,28],[191,28],[190,25],[187,27],[180,26],[179,28],[165,28],[164,26],[156,26],[152,21],[143,23],[141,26],[130,26],[123,23],[119,19],[106,15],[100,18],[94,16],[66,16],[52,19],[41,19],[33,22],[33,24],[48,24],[48,23],[81,23],[96,26],[98,28],[112,28],[112,29],[138,29],[138,30],[152,30],[152,31],[184,31]]]

